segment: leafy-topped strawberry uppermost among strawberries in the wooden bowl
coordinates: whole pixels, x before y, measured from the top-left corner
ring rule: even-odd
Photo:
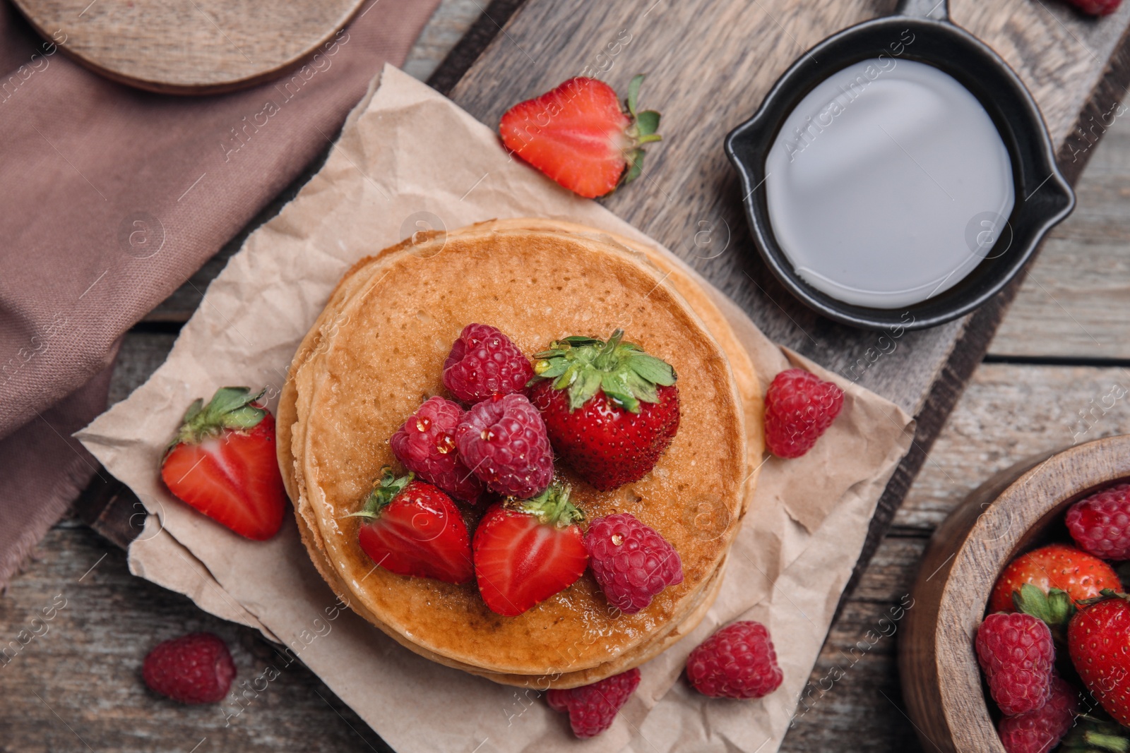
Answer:
[[[1074,602],[1122,584],[1110,564],[1066,544],[1041,546],[1012,560],[997,579],[990,612],[1026,612],[1053,630],[1075,613]]]

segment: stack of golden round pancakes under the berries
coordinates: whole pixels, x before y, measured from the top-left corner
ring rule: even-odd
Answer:
[[[389,438],[443,394],[451,344],[471,322],[527,356],[567,335],[625,340],[671,364],[681,421],[641,481],[599,492],[573,476],[589,519],[632,513],[678,551],[684,580],[636,614],[609,607],[590,572],[513,618],[476,585],[394,575],[357,543],[359,509],[397,462]],[[658,655],[698,624],[760,464],[754,366],[707,294],[676,262],[620,237],[558,221],[483,222],[417,234],[358,262],[303,340],[278,406],[278,455],[303,542],[330,587],[401,645],[496,682],[573,688]],[[484,505],[466,510],[473,532]]]

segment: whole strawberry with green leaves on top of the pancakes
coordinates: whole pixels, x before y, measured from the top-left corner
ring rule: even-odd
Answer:
[[[528,388],[554,449],[601,491],[646,475],[679,428],[675,369],[623,336],[551,343]]]

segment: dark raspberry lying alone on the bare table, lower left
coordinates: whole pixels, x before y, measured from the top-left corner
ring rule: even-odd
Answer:
[[[145,684],[182,703],[224,700],[235,664],[224,641],[210,632],[193,632],[157,643],[141,665]]]

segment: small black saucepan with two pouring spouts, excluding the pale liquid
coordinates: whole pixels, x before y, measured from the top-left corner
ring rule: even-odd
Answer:
[[[913,35],[912,42],[899,45],[907,34]],[[996,228],[996,243],[983,261],[960,282],[911,306],[869,308],[817,290],[793,270],[770,222],[763,189],[765,157],[785,119],[818,84],[852,63],[880,53],[892,56],[895,50],[901,51],[898,59],[949,73],[981,102],[1011,157],[1016,203],[1007,225]],[[741,176],[754,242],[773,273],[812,309],[861,327],[921,330],[970,313],[1020,271],[1044,234],[1075,207],[1075,193],[1055,166],[1052,142],[1032,95],[992,50],[949,23],[946,0],[903,0],[896,15],[864,21],[812,47],[777,80],[757,114],[730,132],[725,154]]]

